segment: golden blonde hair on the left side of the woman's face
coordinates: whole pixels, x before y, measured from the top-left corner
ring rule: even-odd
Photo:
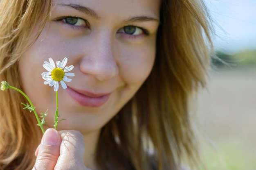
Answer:
[[[1,81],[22,89],[17,61],[40,34],[50,7],[49,0],[0,0]],[[40,17],[38,34],[29,39]],[[22,108],[20,102],[27,102],[22,95],[7,90],[0,92],[0,101],[0,169],[31,170],[42,133],[33,114]]]

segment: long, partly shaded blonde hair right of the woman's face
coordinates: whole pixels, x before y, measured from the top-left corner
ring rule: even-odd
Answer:
[[[103,170],[178,170],[184,159],[198,168],[189,103],[206,84],[210,21],[201,0],[162,0],[153,70],[103,127],[98,161],[110,165]]]

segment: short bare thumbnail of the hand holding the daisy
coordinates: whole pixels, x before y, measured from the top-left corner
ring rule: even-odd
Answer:
[[[49,128],[43,135],[44,145],[56,145],[58,143],[59,134],[55,129]]]

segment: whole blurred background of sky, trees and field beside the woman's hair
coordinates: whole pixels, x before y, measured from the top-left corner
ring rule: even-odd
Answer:
[[[216,37],[195,128],[208,170],[256,170],[256,0],[206,0]]]

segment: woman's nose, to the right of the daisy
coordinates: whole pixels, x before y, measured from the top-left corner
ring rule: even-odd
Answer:
[[[81,72],[92,75],[99,81],[106,81],[115,77],[119,70],[113,55],[111,36],[101,34],[94,36],[94,38],[89,38],[89,40],[90,43],[87,43],[88,46],[85,48],[86,50],[80,63]]]

